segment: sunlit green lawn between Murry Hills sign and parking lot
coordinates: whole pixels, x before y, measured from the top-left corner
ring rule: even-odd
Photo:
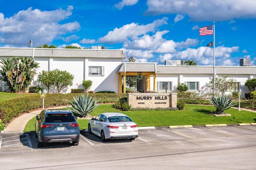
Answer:
[[[214,106],[186,104],[184,110],[177,111],[119,111],[112,104],[102,104],[90,115],[98,115],[104,112],[120,112],[128,115],[138,127],[148,126],[171,126],[171,125],[206,125],[206,124],[238,124],[256,122],[256,113],[250,111],[238,111],[238,109],[227,109],[225,113],[231,116],[218,116],[208,114],[215,110]],[[235,117],[235,119],[233,118]],[[80,129],[87,129],[89,120],[78,119]],[[34,131],[35,117],[25,127],[24,132]]]

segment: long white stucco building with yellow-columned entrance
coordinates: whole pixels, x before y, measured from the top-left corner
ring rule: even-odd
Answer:
[[[44,48],[0,48],[0,59],[7,57],[28,57],[39,63],[37,73],[42,70],[66,70],[74,75],[72,86],[62,93],[70,93],[72,88],[82,88],[82,80],[92,80],[90,90],[125,92],[122,86],[126,76],[143,75],[138,90],[145,92],[176,92],[178,83],[188,85],[191,92],[212,93],[208,83],[213,78],[213,66],[173,66],[158,63],[127,63],[121,50],[108,49],[44,49]],[[256,78],[255,66],[215,66],[216,77],[228,75],[236,80],[230,89],[248,92],[246,80]],[[35,76],[32,86],[38,85]],[[0,91],[6,91],[5,83],[0,81]],[[51,89],[50,93],[56,93]]]

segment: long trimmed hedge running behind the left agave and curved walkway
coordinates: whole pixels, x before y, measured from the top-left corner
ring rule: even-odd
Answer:
[[[70,105],[74,96],[79,94],[46,94],[44,98],[44,107],[56,107]],[[89,94],[98,100],[98,103],[114,103],[121,97],[126,97],[126,94]],[[14,117],[27,113],[34,109],[42,109],[42,98],[39,94],[31,94],[22,98],[16,98],[0,103],[0,119],[3,123],[9,123]]]

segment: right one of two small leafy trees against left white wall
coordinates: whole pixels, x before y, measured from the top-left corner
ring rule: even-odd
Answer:
[[[60,91],[66,88],[67,86],[72,86],[74,79],[74,76],[72,74],[70,74],[66,70],[60,71],[58,69],[55,69],[52,71],[55,77],[54,85],[56,86],[58,93],[60,93]]]

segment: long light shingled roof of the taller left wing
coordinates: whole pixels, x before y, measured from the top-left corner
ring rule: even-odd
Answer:
[[[0,57],[90,57],[122,58],[122,50],[108,49],[46,49],[46,48],[0,48]]]

